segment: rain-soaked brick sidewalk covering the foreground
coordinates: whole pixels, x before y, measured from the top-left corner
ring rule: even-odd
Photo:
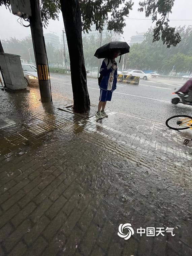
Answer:
[[[86,119],[53,98],[0,91],[0,255],[192,255],[190,131],[110,109]]]

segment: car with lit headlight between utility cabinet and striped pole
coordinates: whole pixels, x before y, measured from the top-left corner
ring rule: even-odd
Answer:
[[[22,64],[22,69],[26,86],[38,86],[39,82],[36,67],[32,64]]]

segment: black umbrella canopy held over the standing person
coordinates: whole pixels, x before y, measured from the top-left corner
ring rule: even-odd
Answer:
[[[111,55],[111,50],[120,51],[119,55],[123,55],[125,53],[129,53],[129,45],[126,42],[110,42],[102,45],[100,48],[97,49],[94,56],[98,59],[108,58]]]

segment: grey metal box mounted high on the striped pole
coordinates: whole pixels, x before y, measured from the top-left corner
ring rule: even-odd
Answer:
[[[14,15],[24,18],[31,16],[30,0],[10,0],[10,4]]]

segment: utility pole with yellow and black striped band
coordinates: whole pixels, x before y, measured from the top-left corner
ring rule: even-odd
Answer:
[[[52,101],[50,76],[47,63],[43,28],[41,23],[39,0],[30,0],[31,17],[29,17],[35,62],[37,66],[39,90],[42,102]]]

